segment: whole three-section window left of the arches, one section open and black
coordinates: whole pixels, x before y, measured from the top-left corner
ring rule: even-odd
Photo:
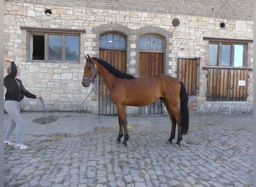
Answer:
[[[79,35],[31,34],[32,61],[79,61]]]

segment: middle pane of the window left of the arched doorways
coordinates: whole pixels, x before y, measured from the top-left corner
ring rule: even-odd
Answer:
[[[61,61],[62,40],[60,35],[49,35],[49,60]]]

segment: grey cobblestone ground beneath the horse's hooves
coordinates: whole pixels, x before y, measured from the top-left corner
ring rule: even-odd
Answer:
[[[117,123],[26,133],[29,150],[4,147],[4,186],[253,186],[251,114],[192,114],[181,147],[165,144],[167,116],[128,121],[128,147],[115,141]]]

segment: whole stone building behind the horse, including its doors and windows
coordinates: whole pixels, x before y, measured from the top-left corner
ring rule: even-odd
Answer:
[[[177,77],[191,112],[251,112],[252,2],[6,0],[4,58],[16,61],[25,87],[43,96],[49,111],[116,113],[100,78],[82,87],[89,54],[136,77]],[[22,110],[42,107],[24,99]],[[165,107],[127,112],[159,114]]]

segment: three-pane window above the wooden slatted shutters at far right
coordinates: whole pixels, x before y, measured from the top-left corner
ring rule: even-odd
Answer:
[[[246,64],[246,44],[209,43],[209,65],[220,67],[244,67]]]

